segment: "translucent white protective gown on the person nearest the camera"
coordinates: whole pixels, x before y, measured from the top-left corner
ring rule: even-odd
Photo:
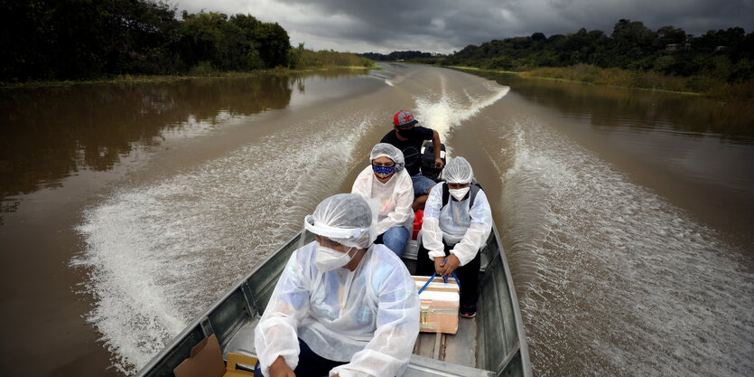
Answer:
[[[372,245],[354,271],[322,273],[317,242],[293,251],[255,329],[261,370],[278,356],[295,369],[301,338],[320,356],[349,362],[330,371],[349,376],[401,375],[419,334],[414,280],[396,254]]]

